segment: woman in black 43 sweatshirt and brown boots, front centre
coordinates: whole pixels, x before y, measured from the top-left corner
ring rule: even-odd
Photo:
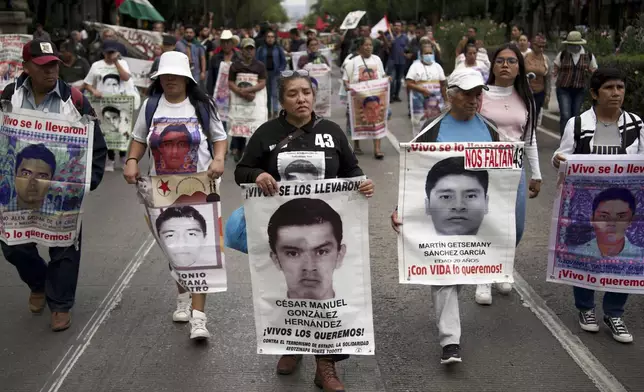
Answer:
[[[265,194],[274,195],[278,181],[364,175],[342,129],[313,112],[315,89],[307,71],[282,72],[278,92],[283,110],[278,118],[264,123],[249,139],[235,169],[237,184],[255,183]],[[303,155],[306,156],[306,164],[302,162]],[[311,166],[315,170],[311,170]],[[297,168],[302,171],[299,175],[294,173]],[[374,192],[372,181],[362,182],[359,190],[371,197]],[[344,391],[336,374],[335,362],[347,357],[316,355],[315,384],[324,391]],[[283,355],[277,363],[277,373],[293,373],[301,359],[302,355]]]

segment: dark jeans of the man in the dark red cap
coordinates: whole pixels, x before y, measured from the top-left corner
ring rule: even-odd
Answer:
[[[81,256],[81,233],[78,233],[78,250],[49,248],[51,261],[46,263],[38,254],[36,244],[8,246],[0,242],[2,253],[18,270],[20,279],[33,292],[45,292],[47,305],[52,312],[69,312],[74,306],[78,269]]]

